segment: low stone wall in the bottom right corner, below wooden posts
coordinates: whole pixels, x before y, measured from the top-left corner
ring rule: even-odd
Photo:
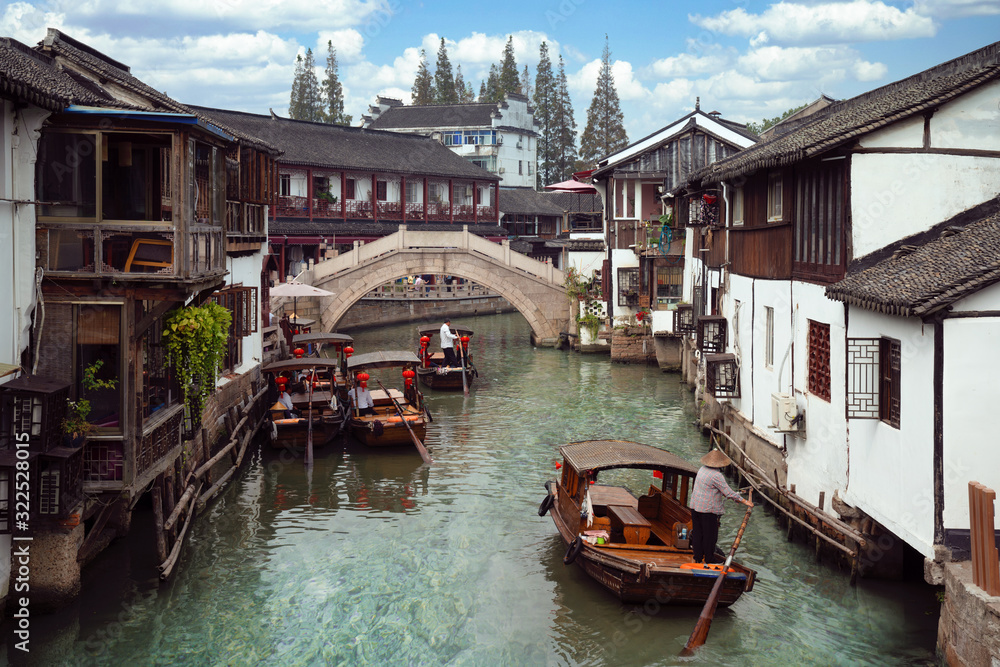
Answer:
[[[948,665],[1000,665],[1000,597],[972,583],[972,562],[944,566],[937,648]]]

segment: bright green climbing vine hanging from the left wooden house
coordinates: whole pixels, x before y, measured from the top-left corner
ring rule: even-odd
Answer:
[[[222,306],[208,302],[185,306],[167,316],[163,341],[167,360],[174,367],[184,392],[184,405],[195,418],[215,387],[215,377],[226,353],[233,316]]]

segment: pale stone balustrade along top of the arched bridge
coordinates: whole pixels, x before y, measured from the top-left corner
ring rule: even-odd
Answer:
[[[537,259],[511,250],[509,241],[494,243],[475,234],[470,234],[468,225],[463,225],[462,231],[454,232],[412,230],[401,225],[398,232],[383,236],[371,243],[362,245],[359,241],[355,241],[354,248],[349,252],[317,264],[314,279],[321,281],[323,278],[378,259],[383,255],[410,248],[464,250],[501,262],[511,269],[534,276],[550,284],[562,285],[564,280],[563,272],[553,265],[539,262]]]

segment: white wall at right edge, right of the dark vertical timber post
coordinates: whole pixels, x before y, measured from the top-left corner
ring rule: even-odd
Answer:
[[[968,530],[969,482],[1000,493],[1000,447],[992,419],[1000,318],[951,319],[944,329],[944,526]],[[1000,512],[994,517],[1000,528]]]

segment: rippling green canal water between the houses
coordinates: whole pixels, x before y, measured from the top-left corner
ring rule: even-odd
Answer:
[[[934,588],[851,587],[760,504],[738,554],[757,585],[677,658],[699,609],[619,603],[563,565],[537,508],[560,443],[631,439],[697,462],[708,443],[692,394],[654,367],[533,348],[517,314],[453,324],[476,332],[479,378],[468,398],[426,392],[432,466],[412,448],[337,444],[308,472],[258,451],[162,585],[140,505],[130,539],[85,570],[80,601],[33,617],[30,656],[5,626],[10,663],[935,664]],[[415,350],[415,330],[356,332],[354,347]],[[730,505],[720,544],[741,517]]]

